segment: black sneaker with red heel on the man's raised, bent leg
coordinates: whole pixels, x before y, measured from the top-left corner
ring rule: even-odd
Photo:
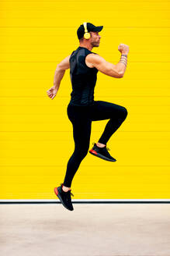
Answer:
[[[90,154],[98,156],[99,158],[102,158],[107,161],[116,162],[116,159],[113,158],[111,155],[109,155],[109,148],[99,148],[95,143],[93,143],[93,147],[91,150],[89,150]]]

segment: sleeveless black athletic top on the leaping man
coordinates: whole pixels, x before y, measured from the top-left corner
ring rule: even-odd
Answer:
[[[85,57],[95,52],[79,46],[71,53],[70,76],[71,76],[71,101],[70,105],[88,106],[94,101],[94,88],[97,80],[98,69],[89,68],[85,64]]]

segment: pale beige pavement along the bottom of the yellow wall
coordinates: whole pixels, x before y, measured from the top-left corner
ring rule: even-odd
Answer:
[[[1,204],[2,256],[169,256],[170,204]]]

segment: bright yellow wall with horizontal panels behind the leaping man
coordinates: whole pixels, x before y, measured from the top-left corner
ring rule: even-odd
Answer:
[[[56,66],[78,47],[83,22],[103,25],[92,52],[116,64],[128,44],[122,79],[98,73],[95,100],[127,108],[107,147],[116,162],[88,154],[72,182],[77,198],[170,198],[168,1],[0,1],[0,199],[54,199],[74,151],[66,71],[56,98]],[[96,142],[108,120],[92,123]],[[64,153],[63,153],[64,152]]]

